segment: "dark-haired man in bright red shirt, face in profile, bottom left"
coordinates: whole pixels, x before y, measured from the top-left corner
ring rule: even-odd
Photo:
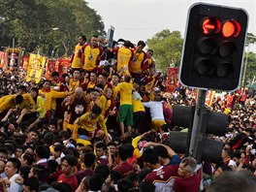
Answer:
[[[66,155],[61,159],[61,170],[63,174],[58,177],[57,181],[69,184],[71,192],[75,192],[79,186],[78,180],[74,175],[77,164],[78,159],[73,155]]]

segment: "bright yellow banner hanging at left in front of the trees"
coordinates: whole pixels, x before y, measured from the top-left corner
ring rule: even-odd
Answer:
[[[39,83],[44,73],[46,61],[46,56],[30,53],[26,81]]]

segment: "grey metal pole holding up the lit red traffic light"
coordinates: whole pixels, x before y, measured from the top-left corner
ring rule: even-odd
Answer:
[[[197,141],[197,135],[199,135],[201,127],[200,127],[200,113],[203,108],[205,108],[206,103],[206,97],[207,97],[207,90],[201,90],[198,91],[198,99],[196,103],[195,113],[194,113],[194,120],[193,120],[193,126],[192,126],[192,132],[191,132],[191,139],[189,144],[189,156],[192,156],[194,158],[198,157],[199,149],[196,148],[196,141]]]

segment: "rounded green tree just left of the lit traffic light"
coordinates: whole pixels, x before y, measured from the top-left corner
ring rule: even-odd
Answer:
[[[156,68],[166,72],[174,61],[180,61],[183,39],[179,31],[162,30],[146,41],[148,48],[153,49]]]

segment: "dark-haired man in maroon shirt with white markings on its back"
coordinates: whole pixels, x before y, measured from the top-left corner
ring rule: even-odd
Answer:
[[[155,185],[155,192],[172,192],[173,184],[177,175],[177,166],[162,166],[156,152],[152,148],[144,150],[144,163],[153,170],[145,180]]]

